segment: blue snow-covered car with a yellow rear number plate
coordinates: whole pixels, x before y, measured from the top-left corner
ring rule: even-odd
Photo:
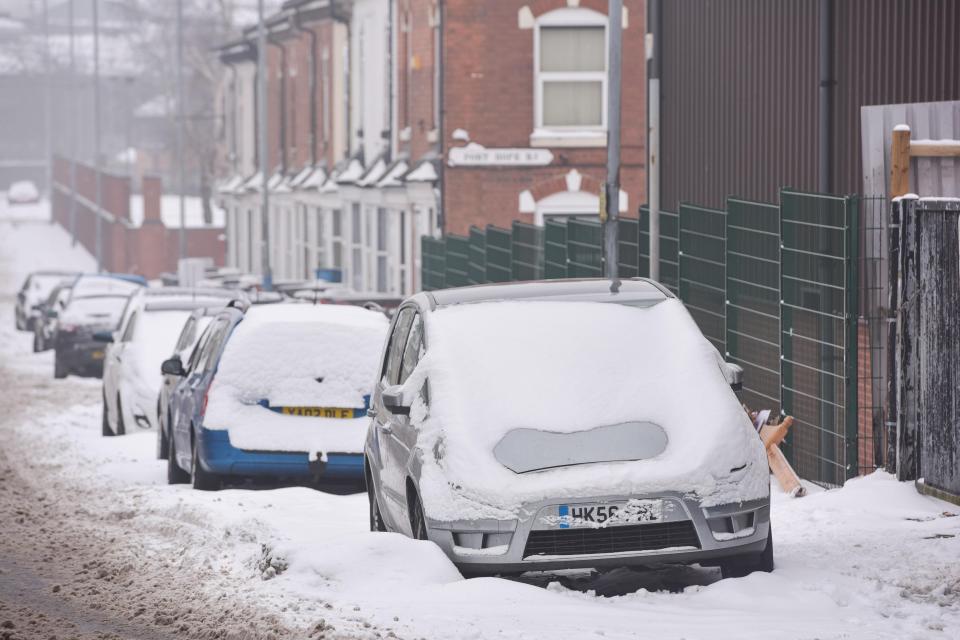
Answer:
[[[239,308],[238,308],[239,307]],[[233,305],[207,327],[170,400],[171,484],[224,476],[363,481],[381,313],[339,305]]]

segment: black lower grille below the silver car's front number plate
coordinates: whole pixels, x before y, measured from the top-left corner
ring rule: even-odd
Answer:
[[[523,557],[656,551],[670,547],[700,548],[693,522],[683,520],[602,529],[531,531]]]

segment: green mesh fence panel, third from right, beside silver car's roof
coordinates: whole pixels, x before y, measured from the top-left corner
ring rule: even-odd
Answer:
[[[680,205],[680,299],[713,346],[726,353],[726,211]]]

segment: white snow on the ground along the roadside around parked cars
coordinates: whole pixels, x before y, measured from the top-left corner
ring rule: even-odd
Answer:
[[[49,380],[49,354],[13,331],[12,283],[24,271],[90,265],[60,229],[5,216],[0,367],[74,399],[38,407],[14,425],[17,439],[43,458],[52,487],[98,488],[83,507],[115,514],[150,557],[207,567],[215,577],[197,589],[255,597],[303,636],[333,626],[328,636],[371,638],[960,637],[960,517],[950,517],[960,509],[884,473],[800,499],[774,488],[777,570],[736,580],[669,567],[464,580],[431,543],[369,533],[364,495],[166,486],[155,434],[102,438],[98,383]]]

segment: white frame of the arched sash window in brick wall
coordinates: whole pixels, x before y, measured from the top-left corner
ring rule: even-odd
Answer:
[[[533,29],[533,108],[534,130],[530,136],[531,146],[537,147],[602,147],[607,139],[607,82],[610,73],[608,38],[610,29],[607,16],[583,7],[565,7],[549,11],[539,18]],[[604,70],[557,72],[540,71],[540,30],[544,27],[603,27]],[[543,124],[543,85],[546,82],[597,81],[599,80],[601,105],[600,126],[551,126]]]

